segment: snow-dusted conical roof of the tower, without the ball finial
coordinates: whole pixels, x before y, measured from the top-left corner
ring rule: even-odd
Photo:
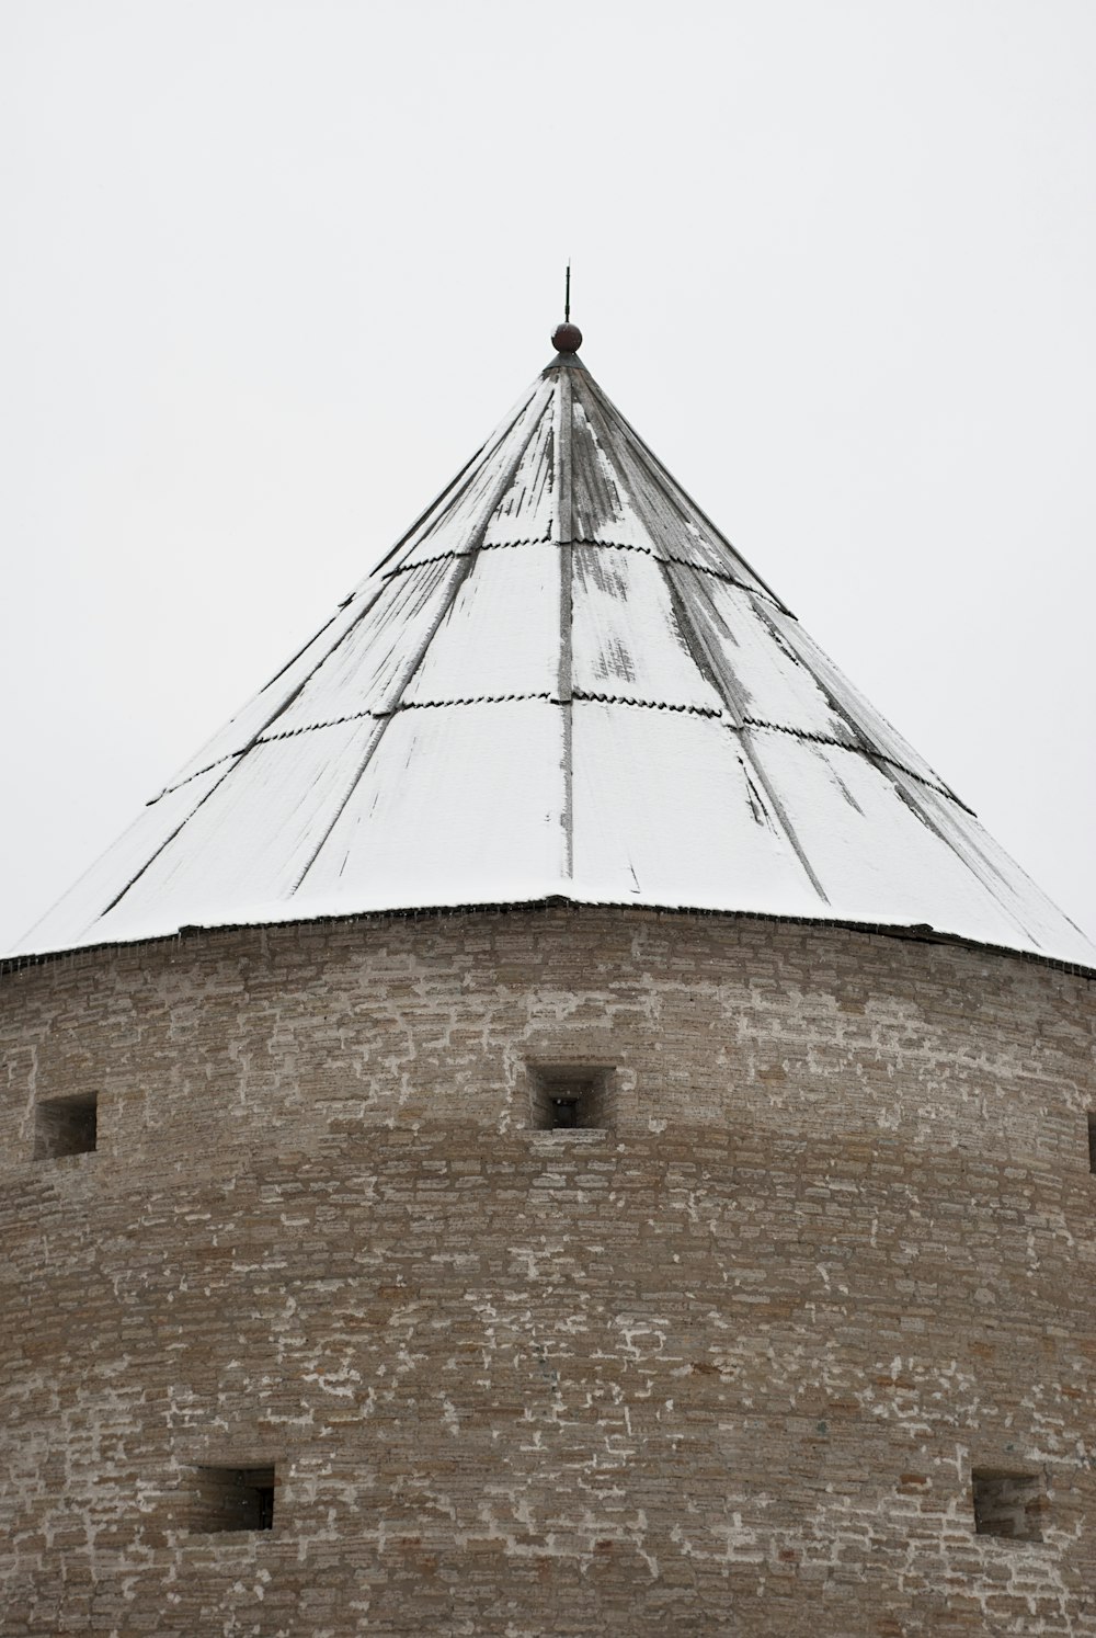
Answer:
[[[21,948],[554,896],[1096,966],[573,354]]]

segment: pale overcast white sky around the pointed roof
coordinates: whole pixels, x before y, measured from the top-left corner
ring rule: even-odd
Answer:
[[[1096,934],[1096,5],[0,5],[0,947],[583,359]]]

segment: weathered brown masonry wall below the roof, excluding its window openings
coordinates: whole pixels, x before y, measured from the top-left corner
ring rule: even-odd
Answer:
[[[1096,1633],[1094,1024],[1034,962],[642,911],[7,973],[0,1630]],[[613,1130],[529,1130],[560,1065]],[[272,1532],[193,1532],[210,1464],[275,1464]]]

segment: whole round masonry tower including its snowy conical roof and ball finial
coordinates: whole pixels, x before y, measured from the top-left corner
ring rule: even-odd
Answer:
[[[1096,950],[578,331],[0,976],[0,1631],[1096,1635]]]

